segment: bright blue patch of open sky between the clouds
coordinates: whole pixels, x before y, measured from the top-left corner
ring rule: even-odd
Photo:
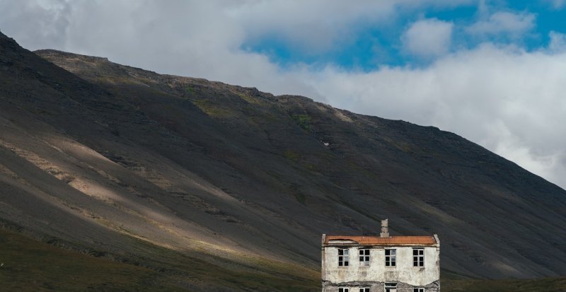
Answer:
[[[525,24],[524,34],[515,36],[501,28],[499,33],[473,34],[470,26],[480,21],[489,21],[490,13],[509,13],[521,16]],[[492,14],[491,14],[492,15]],[[386,23],[371,23],[366,20],[352,23],[352,35],[333,42],[332,47],[311,51],[297,45],[291,38],[277,33],[265,33],[246,40],[241,48],[250,52],[265,54],[271,62],[283,68],[304,63],[311,66],[335,64],[347,70],[371,71],[379,66],[425,66],[434,61],[403,50],[402,35],[412,23],[423,19],[436,19],[452,23],[453,42],[448,52],[473,49],[483,42],[498,45],[517,45],[526,50],[547,47],[549,33],[566,33],[566,10],[560,1],[468,1],[458,6],[424,6],[419,9],[405,9]],[[517,25],[519,23],[516,23]],[[494,23],[493,25],[497,25]],[[508,28],[510,29],[510,28]]]

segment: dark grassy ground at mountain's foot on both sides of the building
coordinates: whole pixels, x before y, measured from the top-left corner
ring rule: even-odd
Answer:
[[[210,264],[163,247],[140,243],[146,259],[114,262],[41,243],[0,228],[0,291],[319,291],[313,269],[265,259]],[[151,258],[151,259],[149,259]],[[223,264],[223,262],[225,264]],[[443,292],[564,292],[566,277],[468,279],[442,271]]]

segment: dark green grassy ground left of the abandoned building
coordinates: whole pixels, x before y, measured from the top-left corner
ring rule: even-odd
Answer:
[[[316,291],[313,273],[265,264],[265,271],[218,265],[151,247],[144,264],[113,262],[63,250],[0,228],[0,291]],[[147,264],[147,267],[141,265]],[[277,274],[275,270],[280,270]],[[209,290],[207,290],[209,288]]]

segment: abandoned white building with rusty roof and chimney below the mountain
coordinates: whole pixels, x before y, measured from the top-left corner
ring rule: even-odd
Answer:
[[[432,236],[325,235],[323,292],[439,292],[440,241]]]

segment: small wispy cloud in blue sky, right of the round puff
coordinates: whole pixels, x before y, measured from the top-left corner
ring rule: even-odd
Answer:
[[[472,35],[490,36],[505,34],[516,38],[529,32],[535,25],[536,16],[533,13],[512,13],[499,11],[489,18],[470,25],[466,31]]]

